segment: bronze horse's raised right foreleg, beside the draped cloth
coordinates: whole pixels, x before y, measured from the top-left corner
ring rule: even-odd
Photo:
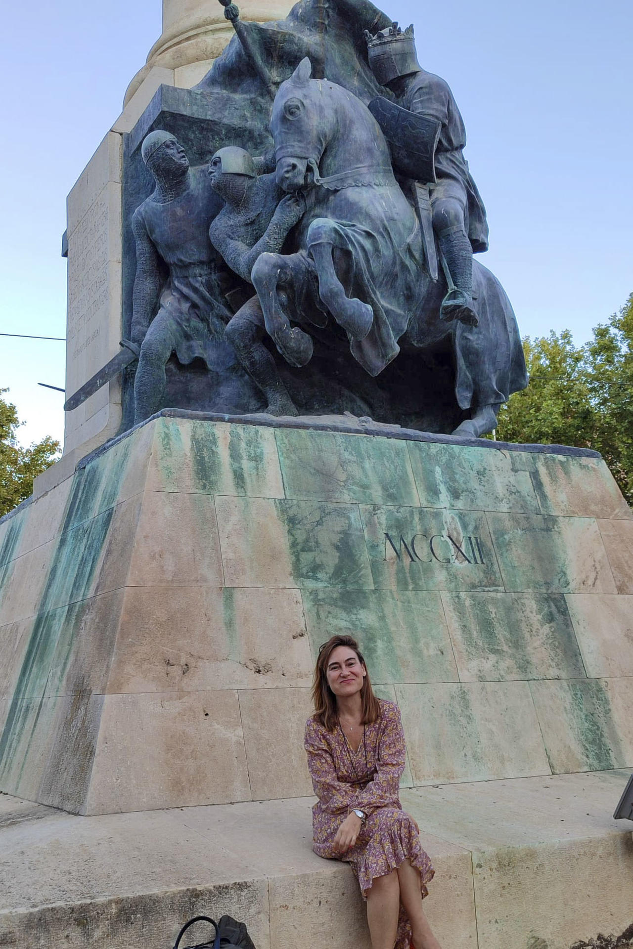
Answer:
[[[353,340],[363,340],[374,322],[374,311],[362,300],[345,296],[343,284],[334,267],[334,224],[317,217],[307,232],[307,250],[319,278],[319,296],[339,326]]]

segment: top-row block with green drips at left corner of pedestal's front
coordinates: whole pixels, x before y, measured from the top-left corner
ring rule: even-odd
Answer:
[[[274,429],[189,419],[155,426],[150,490],[284,496]]]

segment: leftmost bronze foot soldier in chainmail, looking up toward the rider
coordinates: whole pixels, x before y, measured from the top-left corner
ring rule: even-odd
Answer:
[[[156,188],[132,218],[136,241],[132,343],[140,345],[134,383],[135,423],[158,411],[165,366],[173,352],[187,365],[200,357],[210,365],[224,345],[231,313],[221,302],[217,253],[209,225],[220,202],[206,167],[191,168],[169,132],[150,133],[141,155]],[[164,282],[164,269],[169,276]]]

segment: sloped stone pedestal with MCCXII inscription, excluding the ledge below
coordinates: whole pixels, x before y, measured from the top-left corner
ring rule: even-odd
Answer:
[[[633,766],[633,518],[605,463],[415,437],[160,418],[9,516],[0,790],[84,814],[308,794],[335,631],[400,705],[409,786]]]

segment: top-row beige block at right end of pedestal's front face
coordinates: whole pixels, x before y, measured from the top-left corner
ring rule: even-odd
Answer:
[[[633,518],[602,458],[539,455],[531,478],[544,514]]]

